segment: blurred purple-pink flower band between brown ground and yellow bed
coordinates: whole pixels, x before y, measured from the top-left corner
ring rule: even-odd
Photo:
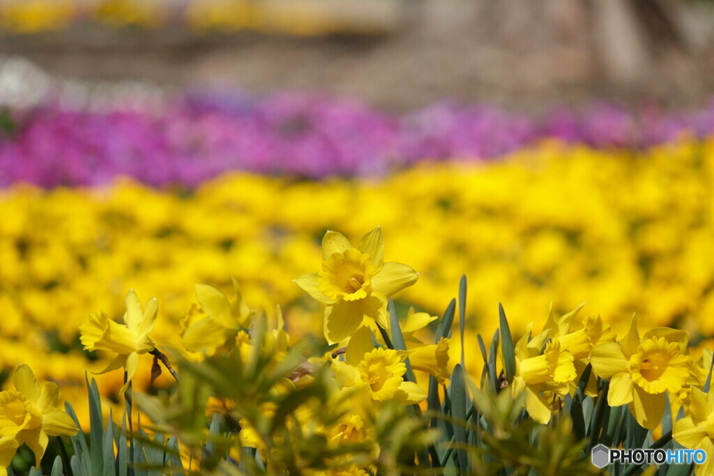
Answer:
[[[232,170],[381,176],[422,160],[493,160],[549,137],[595,148],[643,148],[714,133],[714,99],[690,113],[654,106],[631,113],[596,103],[536,121],[455,102],[397,116],[318,94],[256,98],[208,91],[189,93],[159,112],[46,103],[4,114],[0,187],[16,181],[101,185],[131,176],[151,186],[193,188]]]

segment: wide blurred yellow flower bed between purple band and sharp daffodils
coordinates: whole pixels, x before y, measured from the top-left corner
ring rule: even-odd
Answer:
[[[397,298],[426,311],[413,313],[418,333],[466,273],[468,310],[476,315],[467,323],[471,331],[492,332],[500,300],[521,335],[533,313],[557,297],[555,312],[588,300],[620,335],[627,330],[623,315],[633,312],[652,326],[711,335],[713,183],[714,141],[685,141],[642,153],[544,143],[498,163],[431,163],[381,180],[315,183],[236,173],[190,196],[129,181],[52,191],[14,186],[0,192],[0,365],[28,363],[41,378],[74,383],[66,394],[79,402],[84,370],[99,371],[116,358],[114,351],[87,362],[79,326],[89,310],[98,321],[101,313],[120,320],[126,290],[156,296],[156,345],[181,348],[182,335],[194,333],[189,345],[198,350],[201,333],[191,325],[221,323],[212,328],[227,339],[248,319],[230,300],[228,310],[225,303],[204,307],[206,288],[196,290],[199,305],[185,318],[193,283],[227,292],[231,276],[241,284],[237,301],[244,296],[271,315],[274,303],[284,303],[293,337],[319,334],[314,316],[322,303],[291,279],[321,263],[326,228],[361,236],[376,225],[389,231],[389,258],[421,273],[420,283]],[[348,299],[368,276],[372,297],[389,293],[376,292],[380,273],[364,249],[351,249],[345,259],[362,275],[341,277],[331,272],[332,258],[323,260],[318,291],[328,307],[365,300]],[[102,348],[101,338],[95,342]],[[139,359],[151,358],[134,343]],[[447,344],[429,352],[443,361]],[[422,362],[433,367],[427,357]],[[149,383],[149,367],[139,365],[139,388]],[[124,385],[117,374],[101,375],[104,392]]]

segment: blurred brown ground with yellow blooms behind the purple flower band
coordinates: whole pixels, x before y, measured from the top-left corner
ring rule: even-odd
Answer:
[[[593,98],[698,107],[713,87],[706,0],[3,0],[2,93],[46,79],[149,91],[290,88],[389,111]],[[18,64],[18,61],[26,61]],[[46,76],[45,76],[46,75]],[[24,92],[24,91],[23,91]]]

